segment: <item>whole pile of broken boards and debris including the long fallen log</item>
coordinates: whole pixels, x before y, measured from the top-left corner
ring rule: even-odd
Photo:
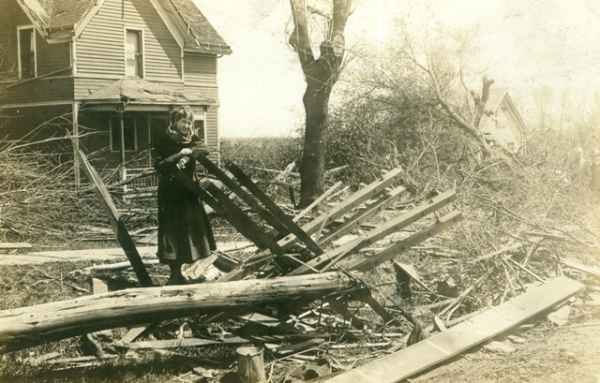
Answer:
[[[539,288],[528,292],[540,282],[552,291],[568,288],[534,312],[511,319],[508,328],[580,289],[567,279],[552,282],[560,275],[552,270],[557,263],[534,260],[539,246],[510,244],[464,261],[444,241],[431,241],[462,218],[450,206],[456,191],[410,193],[400,168],[343,197],[335,192],[341,186],[336,184],[292,217],[235,164],[220,168],[206,158],[200,162],[213,179],[200,184],[178,179],[250,241],[254,251],[215,252],[188,270],[191,284],[152,287],[156,278],[146,266],[152,269],[155,262],[141,259],[107,189],[81,155],[134,275],[146,287],[109,292],[101,279],[128,264],[90,268],[96,295],[0,312],[0,352],[85,335],[96,356],[79,364],[87,366],[139,358],[148,350],[181,356],[182,350],[253,344],[264,350],[271,381],[293,382],[351,370],[366,359],[422,345],[430,333],[444,334],[492,305],[503,307],[498,309],[502,314],[509,312],[519,299],[530,302],[543,294]],[[417,256],[410,263],[402,258],[409,250]],[[440,266],[420,267],[425,257],[440,260]],[[487,293],[491,289],[495,294]],[[520,298],[526,293],[527,298]],[[130,328],[124,334],[107,331],[124,326]],[[489,337],[504,330],[491,329]],[[489,337],[461,344],[448,355]],[[53,360],[57,358],[43,362]],[[66,362],[79,363],[61,361]],[[220,368],[231,368],[231,363]],[[214,375],[195,370],[186,376]]]

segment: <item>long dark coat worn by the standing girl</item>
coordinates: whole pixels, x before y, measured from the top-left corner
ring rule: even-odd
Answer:
[[[155,167],[158,183],[158,258],[161,263],[193,263],[210,255],[216,249],[206,211],[192,191],[186,189],[173,176],[178,160],[164,161],[184,148],[168,137],[159,140]],[[190,160],[181,170],[194,179],[196,162]]]

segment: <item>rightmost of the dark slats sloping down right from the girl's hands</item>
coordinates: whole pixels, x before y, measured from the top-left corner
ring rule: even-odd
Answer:
[[[315,255],[323,253],[323,250],[317,245],[317,243],[306,234],[297,224],[288,217],[279,206],[269,196],[267,196],[256,184],[248,177],[242,169],[232,162],[227,164],[227,169],[237,178],[237,180],[248,189],[258,200],[267,208],[283,226],[287,229],[288,233],[295,235],[310,251]]]

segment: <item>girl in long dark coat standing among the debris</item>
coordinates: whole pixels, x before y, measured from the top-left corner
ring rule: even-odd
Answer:
[[[165,135],[155,144],[159,174],[157,255],[171,269],[167,284],[184,284],[182,265],[206,258],[216,248],[202,202],[176,177],[183,174],[193,180],[196,156],[207,154],[194,148],[195,139],[193,113],[186,106],[170,112]]]

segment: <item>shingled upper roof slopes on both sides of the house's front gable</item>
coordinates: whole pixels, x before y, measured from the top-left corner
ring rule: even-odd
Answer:
[[[98,4],[98,0],[17,0],[44,35],[64,36]],[[231,48],[196,7],[193,0],[158,0],[185,36],[185,49],[206,54],[230,54]]]

